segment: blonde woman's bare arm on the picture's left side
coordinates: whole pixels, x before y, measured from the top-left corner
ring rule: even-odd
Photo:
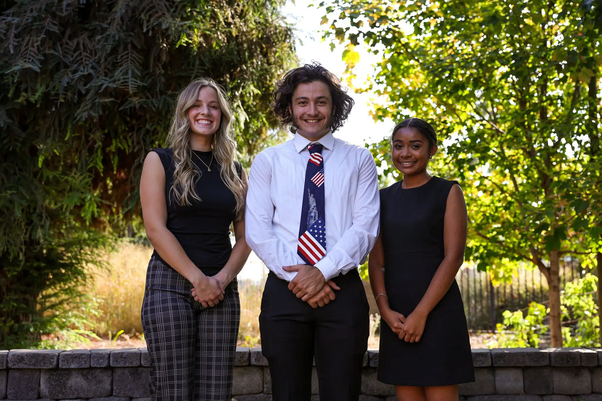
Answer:
[[[194,265],[182,245],[166,227],[167,203],[165,199],[165,171],[159,155],[151,152],[144,160],[140,179],[140,203],[146,236],[163,260],[184,276],[201,296],[203,306],[214,306],[223,299],[220,283],[206,277]]]

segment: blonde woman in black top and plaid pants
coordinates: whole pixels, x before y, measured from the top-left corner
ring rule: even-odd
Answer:
[[[250,249],[244,239],[247,177],[234,161],[231,122],[223,88],[197,79],[178,96],[167,147],[144,161],[140,201],[155,251],[141,317],[152,400],[232,399],[240,321],[236,276]]]

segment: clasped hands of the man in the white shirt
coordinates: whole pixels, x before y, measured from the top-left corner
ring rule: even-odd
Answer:
[[[288,283],[288,289],[312,308],[323,307],[334,300],[333,290],[341,289],[334,281],[326,281],[322,272],[315,266],[294,265],[284,266],[282,269],[285,272],[297,272],[295,278]]]

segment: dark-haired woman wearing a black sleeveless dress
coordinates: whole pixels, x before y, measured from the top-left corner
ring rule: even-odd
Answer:
[[[462,296],[467,210],[455,181],[426,168],[435,130],[420,118],[397,124],[393,164],[403,180],[380,190],[380,235],[370,253],[370,284],[382,316],[379,381],[402,401],[458,400],[474,381]]]

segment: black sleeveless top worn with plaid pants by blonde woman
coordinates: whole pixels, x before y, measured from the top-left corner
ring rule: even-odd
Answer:
[[[165,170],[167,229],[173,233],[184,252],[203,274],[217,274],[228,262],[232,252],[230,225],[236,219],[236,198],[220,176],[220,165],[215,158],[211,162],[212,152],[193,150],[192,161],[201,172],[194,190],[201,201],[193,199],[190,206],[181,206],[171,191],[175,170],[172,149],[153,149],[151,152],[159,155]],[[199,158],[205,164],[200,162]],[[211,171],[208,171],[205,165],[208,165]],[[235,166],[238,176],[241,176],[243,167],[238,162],[235,162]],[[153,256],[167,265],[157,253],[157,249]]]

